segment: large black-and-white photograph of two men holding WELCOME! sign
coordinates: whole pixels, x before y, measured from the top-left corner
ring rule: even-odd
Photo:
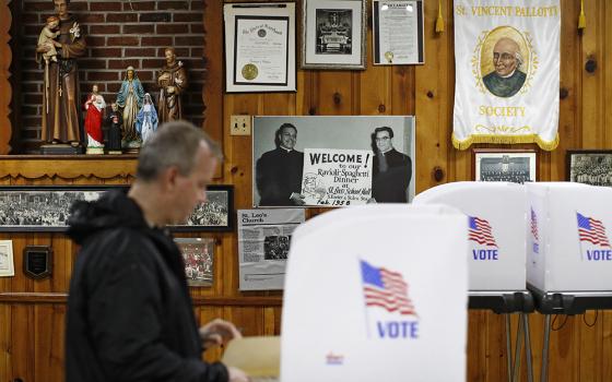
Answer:
[[[260,207],[408,203],[414,117],[255,117],[252,201]]]

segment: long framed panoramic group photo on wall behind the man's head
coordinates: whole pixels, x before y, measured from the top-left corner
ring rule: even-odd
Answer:
[[[108,190],[127,192],[129,186],[2,186],[0,231],[64,231],[70,207],[76,201],[95,201]],[[180,231],[228,231],[233,229],[232,186],[208,187],[207,202],[199,204]]]

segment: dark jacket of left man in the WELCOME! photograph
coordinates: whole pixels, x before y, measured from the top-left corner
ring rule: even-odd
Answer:
[[[276,147],[263,153],[256,166],[260,206],[293,205],[290,196],[302,192],[304,153]]]

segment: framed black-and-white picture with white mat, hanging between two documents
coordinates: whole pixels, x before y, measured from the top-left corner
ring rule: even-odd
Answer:
[[[365,69],[365,0],[304,0],[302,68]]]

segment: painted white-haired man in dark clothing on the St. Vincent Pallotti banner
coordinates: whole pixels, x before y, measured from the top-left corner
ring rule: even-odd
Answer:
[[[493,47],[495,70],[484,77],[484,86],[497,97],[511,97],[520,91],[527,74],[520,71],[522,56],[519,45],[509,37],[502,37]]]

